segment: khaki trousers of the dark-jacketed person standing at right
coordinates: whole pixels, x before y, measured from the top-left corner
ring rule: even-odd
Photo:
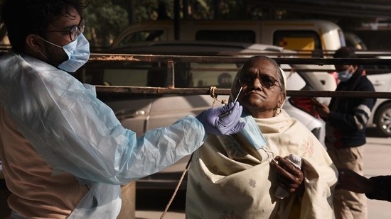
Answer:
[[[358,174],[363,175],[363,146],[328,149],[327,152],[337,168],[353,169]],[[336,189],[333,208],[336,219],[366,219],[368,217],[365,194]]]

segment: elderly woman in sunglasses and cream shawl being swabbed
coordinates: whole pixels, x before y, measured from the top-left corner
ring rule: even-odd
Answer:
[[[231,100],[244,108],[245,129],[210,136],[194,152],[186,218],[333,218],[338,171],[321,142],[282,109],[285,86],[269,57],[251,57],[237,72]]]

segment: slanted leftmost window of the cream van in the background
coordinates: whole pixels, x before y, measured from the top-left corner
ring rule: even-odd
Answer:
[[[131,43],[161,40],[166,40],[166,33],[164,30],[140,30],[134,33],[129,33],[129,35],[121,40],[119,46],[129,45]]]

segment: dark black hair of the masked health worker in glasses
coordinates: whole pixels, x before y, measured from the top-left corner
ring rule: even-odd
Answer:
[[[88,0],[4,0],[1,4],[1,22],[7,28],[9,42],[15,51],[23,52],[27,35],[43,36],[43,30],[55,16],[72,18],[74,8],[82,16]]]

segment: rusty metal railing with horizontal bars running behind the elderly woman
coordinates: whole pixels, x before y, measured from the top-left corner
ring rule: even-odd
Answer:
[[[391,55],[391,53],[389,53]],[[262,53],[260,55],[267,55]],[[387,65],[391,59],[378,58],[355,58],[355,59],[333,59],[333,58],[297,58],[282,57],[285,53],[271,53],[279,64],[312,64],[312,65],[333,65],[333,64],[362,64],[362,65]],[[385,55],[383,52],[382,55]],[[176,88],[174,84],[174,72],[176,62],[205,62],[205,63],[243,63],[251,55],[244,56],[187,56],[187,55],[136,55],[136,54],[98,54],[90,56],[89,62],[166,62],[167,81],[166,87],[149,86],[97,86],[97,92],[100,94],[205,94],[210,95],[210,89],[205,88]],[[300,69],[296,69],[300,70]],[[331,70],[331,69],[330,69]],[[305,69],[304,72],[325,71],[324,69]],[[390,69],[391,72],[391,69]],[[215,95],[229,95],[230,89],[214,89]],[[287,96],[318,96],[318,97],[351,97],[363,98],[373,97],[380,99],[391,99],[390,92],[364,92],[364,91],[286,91]]]

